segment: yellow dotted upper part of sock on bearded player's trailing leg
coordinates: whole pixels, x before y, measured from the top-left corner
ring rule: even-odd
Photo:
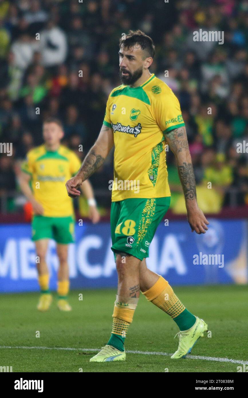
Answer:
[[[166,312],[172,318],[180,315],[185,310],[185,306],[175,295],[172,287],[161,275],[156,283],[143,293],[148,301]]]

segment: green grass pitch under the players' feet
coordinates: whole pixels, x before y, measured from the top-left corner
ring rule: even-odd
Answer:
[[[199,339],[192,355],[227,357],[246,361],[247,287],[174,287],[186,308],[203,318],[211,338]],[[83,293],[83,300],[78,294]],[[55,293],[53,293],[55,297]],[[115,290],[71,291],[72,312],[60,312],[53,300],[48,312],[36,310],[38,293],[0,295],[0,346],[73,347],[76,351],[0,349],[0,366],[13,372],[236,372],[238,364],[200,359],[173,360],[168,356],[127,354],[124,362],[89,363],[95,353],[79,348],[100,348],[111,333]],[[40,338],[35,337],[36,331]],[[141,295],[126,350],[174,353],[178,339],[175,322]],[[206,334],[205,334],[206,336]]]

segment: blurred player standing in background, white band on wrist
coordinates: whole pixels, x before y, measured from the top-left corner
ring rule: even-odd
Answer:
[[[58,119],[47,119],[43,123],[45,144],[30,150],[21,167],[20,187],[31,202],[34,213],[32,240],[39,258],[37,270],[41,296],[37,308],[40,311],[48,310],[52,302],[49,270],[45,260],[49,239],[57,242],[59,257],[57,306],[61,311],[72,309],[67,301],[67,257],[68,244],[74,242],[75,219],[72,199],[68,197],[64,184],[78,172],[81,162],[72,150],[61,145],[63,135],[62,123]],[[82,192],[88,199],[90,219],[96,223],[100,216],[88,180],[82,184]]]

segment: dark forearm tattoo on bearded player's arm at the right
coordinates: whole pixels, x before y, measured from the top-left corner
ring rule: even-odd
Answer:
[[[178,165],[178,174],[184,190],[185,200],[196,199],[195,176],[192,163]]]

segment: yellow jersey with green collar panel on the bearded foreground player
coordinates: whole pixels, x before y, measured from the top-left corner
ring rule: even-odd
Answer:
[[[112,201],[170,196],[163,133],[184,126],[184,121],[167,84],[151,74],[139,87],[114,88],[103,124],[114,135]]]

